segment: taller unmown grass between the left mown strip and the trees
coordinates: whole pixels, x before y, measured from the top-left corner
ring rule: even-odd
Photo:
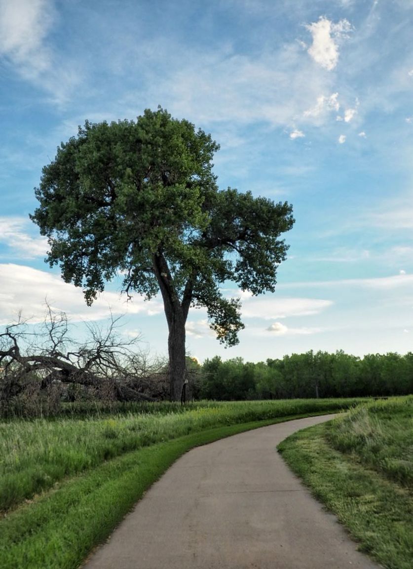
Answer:
[[[145,413],[100,418],[7,420],[0,423],[0,512],[66,477],[116,456],[208,428],[287,415],[348,409],[357,399],[203,402],[181,408],[145,406]],[[162,411],[162,409],[165,410]]]

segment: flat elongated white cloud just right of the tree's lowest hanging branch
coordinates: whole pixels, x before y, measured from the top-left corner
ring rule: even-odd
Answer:
[[[319,314],[332,306],[331,300],[315,298],[252,298],[245,300],[241,314],[245,318],[262,318],[264,320],[283,319],[289,316],[310,316]]]

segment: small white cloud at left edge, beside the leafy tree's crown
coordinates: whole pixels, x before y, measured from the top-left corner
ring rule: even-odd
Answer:
[[[0,243],[10,247],[18,258],[45,257],[47,239],[27,233],[32,222],[24,217],[0,217]]]

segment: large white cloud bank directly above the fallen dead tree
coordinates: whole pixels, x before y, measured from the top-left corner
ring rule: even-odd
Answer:
[[[103,292],[91,307],[86,306],[80,288],[65,283],[60,277],[24,265],[0,264],[0,323],[14,320],[22,310],[24,318],[39,322],[44,318],[44,301],[53,309],[64,311],[73,321],[106,319],[109,307],[112,314],[159,314],[162,303],[158,299],[145,302],[134,295],[131,302],[116,292]]]

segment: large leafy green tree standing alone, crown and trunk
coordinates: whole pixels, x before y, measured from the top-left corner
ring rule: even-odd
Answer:
[[[136,122],[86,122],[35,189],[40,205],[31,218],[48,237],[47,261],[84,288],[88,304],[118,274],[128,295],[161,292],[172,399],[185,377],[189,308],[205,307],[218,339],[236,344],[240,302],[220,285],[273,291],[287,251],[279,236],[294,222],[287,203],[220,191],[212,173],[218,148],[161,108]]]

